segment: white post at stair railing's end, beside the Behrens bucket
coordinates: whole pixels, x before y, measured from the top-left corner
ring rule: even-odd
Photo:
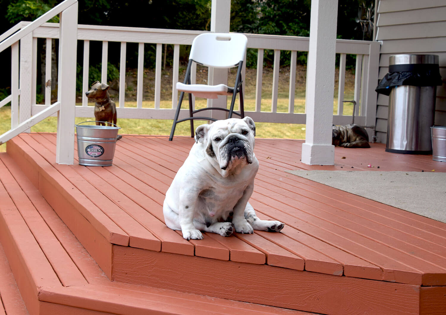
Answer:
[[[74,164],[78,3],[60,14],[56,163]],[[62,92],[63,91],[63,92]]]

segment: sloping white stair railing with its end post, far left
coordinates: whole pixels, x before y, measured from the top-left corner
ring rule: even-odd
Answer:
[[[37,38],[33,32],[58,14],[60,14],[60,24],[56,30],[58,37],[61,38],[58,100],[34,114],[32,105],[36,103]],[[29,130],[31,126],[54,113],[58,113],[56,162],[73,164],[74,127],[66,128],[64,126],[74,126],[77,17],[78,1],[65,0],[33,22],[19,23],[1,35],[0,52],[11,47],[11,95],[0,101],[0,107],[11,102],[11,130],[0,136],[0,144]],[[24,27],[22,28],[22,26]],[[62,90],[64,93],[60,92]]]

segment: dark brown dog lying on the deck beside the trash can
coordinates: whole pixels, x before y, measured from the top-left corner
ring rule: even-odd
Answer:
[[[332,126],[331,144],[336,147],[370,147],[367,131],[356,124]]]

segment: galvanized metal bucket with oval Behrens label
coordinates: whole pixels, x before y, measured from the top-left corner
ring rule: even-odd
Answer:
[[[96,122],[96,121],[88,121]],[[79,164],[85,166],[111,166],[115,155],[116,139],[120,127],[76,125]]]

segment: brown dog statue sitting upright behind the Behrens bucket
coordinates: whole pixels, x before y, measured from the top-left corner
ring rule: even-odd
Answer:
[[[108,88],[107,84],[96,81],[91,85],[90,91],[85,92],[88,99],[95,101],[96,125],[106,126],[105,122],[108,123],[108,126],[111,126],[111,123],[116,125],[116,104],[111,101],[107,92]]]

